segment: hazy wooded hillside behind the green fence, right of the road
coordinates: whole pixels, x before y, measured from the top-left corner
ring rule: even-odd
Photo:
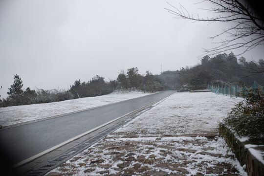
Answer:
[[[176,71],[165,71],[159,77],[170,87],[188,85],[191,89],[205,89],[207,85],[241,84],[251,87],[256,81],[264,85],[264,60],[246,61],[233,52],[204,56],[196,66],[182,67]]]

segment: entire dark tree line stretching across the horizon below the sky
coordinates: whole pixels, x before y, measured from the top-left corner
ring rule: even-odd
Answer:
[[[258,62],[239,59],[233,52],[204,56],[196,66],[182,67],[176,71],[164,71],[154,75],[150,71],[139,74],[137,67],[121,70],[115,80],[105,81],[104,77],[94,76],[87,82],[75,80],[69,89],[22,89],[19,75],[14,76],[14,84],[7,92],[7,98],[0,99],[0,107],[49,103],[75,98],[109,94],[115,90],[141,90],[147,92],[165,89],[178,89],[188,85],[190,89],[205,89],[207,85],[228,85],[243,83],[251,87],[254,81],[264,85],[264,60]]]

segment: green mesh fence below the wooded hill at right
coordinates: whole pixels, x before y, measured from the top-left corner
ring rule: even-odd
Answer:
[[[250,88],[247,88],[245,86],[239,87],[238,85],[231,85],[231,86],[216,86],[216,85],[208,85],[208,89],[211,90],[211,92],[217,93],[217,94],[223,94],[223,95],[230,95],[230,96],[242,96],[242,92],[244,94],[247,93],[245,90],[250,89],[256,89],[258,88],[260,91],[264,93],[263,86],[259,85],[257,82],[254,82],[253,85]]]

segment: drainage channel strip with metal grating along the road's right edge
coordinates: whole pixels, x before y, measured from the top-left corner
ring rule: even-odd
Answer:
[[[58,149],[55,149],[47,154],[44,154],[28,163],[23,164],[15,168],[16,173],[19,176],[43,176],[52,169],[60,166],[62,163],[70,159],[76,154],[84,151],[92,144],[98,142],[103,137],[107,136],[109,133],[114,132],[121,126],[127,124],[136,116],[140,115],[146,110],[151,109],[154,104],[166,97],[163,97],[137,111],[132,112],[104,127],[101,127],[93,132],[86,134]]]

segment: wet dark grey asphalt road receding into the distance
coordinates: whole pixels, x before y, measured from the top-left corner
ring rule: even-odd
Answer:
[[[163,91],[108,106],[1,129],[1,152],[7,154],[14,165],[174,92]]]

